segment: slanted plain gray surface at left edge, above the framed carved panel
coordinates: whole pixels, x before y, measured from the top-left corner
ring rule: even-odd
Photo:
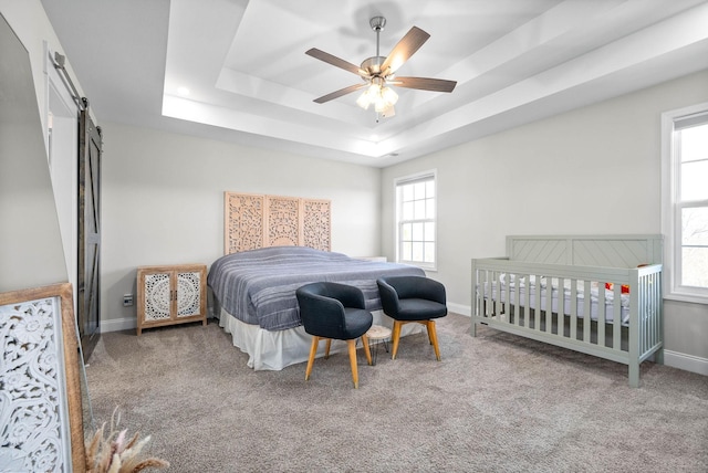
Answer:
[[[66,282],[30,57],[0,17],[0,292]]]

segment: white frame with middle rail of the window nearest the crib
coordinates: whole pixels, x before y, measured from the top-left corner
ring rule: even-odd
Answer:
[[[704,116],[708,123],[708,102],[662,114],[662,231],[664,233],[664,297],[667,299],[708,304],[708,287],[686,286],[680,283],[681,271],[681,210],[708,207],[708,199],[680,201],[680,156],[675,139],[675,124],[691,116]]]

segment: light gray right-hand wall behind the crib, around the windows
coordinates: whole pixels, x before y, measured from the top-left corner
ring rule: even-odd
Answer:
[[[504,255],[508,234],[662,233],[660,114],[707,99],[702,72],[389,167],[382,250],[395,255],[394,179],[433,168],[439,262],[429,275],[460,309],[470,260]],[[665,313],[666,348],[708,359],[708,306],[667,302]]]

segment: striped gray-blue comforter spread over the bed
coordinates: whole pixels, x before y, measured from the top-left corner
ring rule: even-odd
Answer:
[[[376,278],[419,275],[419,267],[352,259],[304,246],[274,246],[228,254],[214,262],[207,284],[218,303],[247,324],[284,330],[300,324],[295,290],[333,281],[362,290],[368,311],[381,308]]]

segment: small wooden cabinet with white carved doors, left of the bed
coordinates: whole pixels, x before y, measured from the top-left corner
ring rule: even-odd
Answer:
[[[137,335],[143,329],[201,320],[207,325],[207,266],[137,269]]]

